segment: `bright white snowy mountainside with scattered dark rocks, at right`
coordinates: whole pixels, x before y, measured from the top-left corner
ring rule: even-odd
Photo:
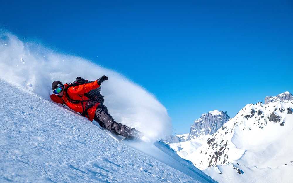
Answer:
[[[170,146],[219,182],[291,182],[293,100],[290,99],[292,95],[285,92],[266,97],[267,104],[248,104],[200,143]]]

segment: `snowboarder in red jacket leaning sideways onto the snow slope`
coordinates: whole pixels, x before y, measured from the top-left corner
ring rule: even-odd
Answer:
[[[89,100],[88,95],[86,95],[90,90],[99,88],[105,80],[108,80],[108,77],[104,75],[96,81],[78,86],[67,83],[63,85],[60,81],[54,81],[52,83],[52,90],[56,95],[52,94],[50,97],[54,102],[65,104],[75,112],[81,113],[81,115],[90,121],[97,121],[101,127],[111,131],[115,135],[127,138],[139,138],[141,133],[138,130],[114,121],[108,113],[106,106],[99,102]]]

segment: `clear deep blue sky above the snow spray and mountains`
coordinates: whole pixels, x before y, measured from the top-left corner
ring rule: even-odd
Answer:
[[[293,93],[291,0],[11,0],[0,28],[125,75],[166,107],[176,134],[203,113],[234,117]]]

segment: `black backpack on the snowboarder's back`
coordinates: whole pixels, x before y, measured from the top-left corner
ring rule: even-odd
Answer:
[[[88,81],[88,80],[82,79],[81,77],[77,77],[76,80],[73,81],[72,83],[70,83],[68,87],[79,86],[79,85],[92,83],[92,82],[94,82],[94,81]],[[103,105],[104,104],[104,97],[100,94],[100,91],[101,91],[101,86],[99,88],[96,88],[96,89],[89,91],[88,93],[85,93],[84,95],[86,97],[88,97],[88,100],[90,100],[91,102],[98,102]]]

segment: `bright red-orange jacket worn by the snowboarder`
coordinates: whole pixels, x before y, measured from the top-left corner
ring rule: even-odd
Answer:
[[[88,100],[88,97],[84,96],[84,93],[88,93],[92,89],[99,88],[100,85],[98,85],[97,80],[88,83],[88,84],[83,84],[79,86],[70,86],[69,84],[64,84],[64,94],[62,97],[59,97],[58,95],[52,94],[50,95],[51,99],[54,102],[60,103],[60,104],[66,104],[70,109],[74,110],[75,112],[82,113],[84,112],[84,109],[86,109],[86,104],[87,102],[81,102],[78,104],[73,104],[69,102],[70,99],[73,100]],[[68,87],[68,88],[67,88]],[[69,98],[67,98],[67,95],[65,93],[67,92],[67,95],[69,95]],[[88,116],[86,115],[86,118],[88,118],[90,121],[93,121],[93,118],[95,116],[95,111],[100,103],[96,103],[93,107],[89,108],[87,110]]]

